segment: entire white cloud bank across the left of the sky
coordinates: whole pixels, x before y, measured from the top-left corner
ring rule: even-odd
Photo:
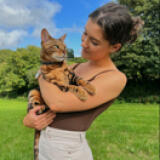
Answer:
[[[47,28],[53,36],[81,32],[75,25],[56,27],[54,16],[61,8],[59,3],[49,0],[0,0],[0,49],[16,47],[27,35],[40,38],[42,28]]]

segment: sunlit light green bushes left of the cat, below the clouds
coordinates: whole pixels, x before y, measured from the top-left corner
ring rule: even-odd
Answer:
[[[39,67],[40,48],[28,46],[26,49],[2,50],[0,53],[0,94],[14,91],[21,94],[35,86],[33,79]]]

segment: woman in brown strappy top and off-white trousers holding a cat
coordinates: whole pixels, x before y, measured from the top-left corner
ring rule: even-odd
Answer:
[[[85,132],[93,120],[122,92],[127,78],[110,55],[127,42],[134,42],[143,25],[119,4],[108,3],[89,15],[82,35],[82,57],[88,61],[72,65],[75,73],[96,88],[95,96],[81,102],[69,92],[39,78],[42,97],[51,111],[36,115],[35,108],[24,118],[24,125],[43,129],[39,144],[40,160],[93,160]],[[49,127],[47,127],[49,125]]]

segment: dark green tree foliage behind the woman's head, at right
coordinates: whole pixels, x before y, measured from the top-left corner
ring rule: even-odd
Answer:
[[[160,18],[159,0],[118,0],[132,15],[144,22],[141,36],[132,45],[126,45],[113,60],[130,80],[160,79]]]

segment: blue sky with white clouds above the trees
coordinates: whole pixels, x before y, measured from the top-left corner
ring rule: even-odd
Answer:
[[[81,56],[81,35],[88,15],[111,0],[0,0],[0,49],[40,47],[46,28],[54,37],[67,34],[65,44]]]

